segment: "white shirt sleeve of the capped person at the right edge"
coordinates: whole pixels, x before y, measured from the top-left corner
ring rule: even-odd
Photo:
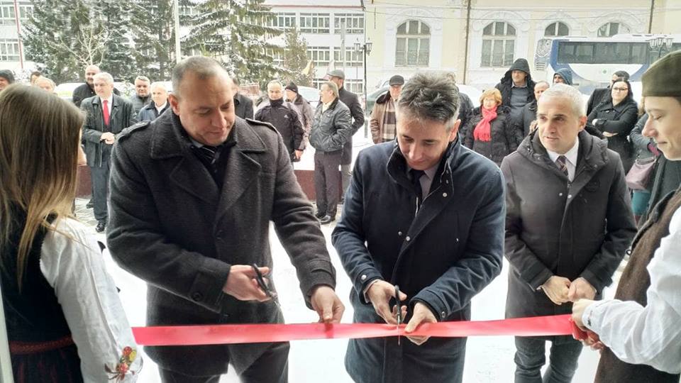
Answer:
[[[620,360],[681,372],[681,209],[672,216],[669,235],[648,264],[646,307],[634,301],[599,301],[582,315]]]

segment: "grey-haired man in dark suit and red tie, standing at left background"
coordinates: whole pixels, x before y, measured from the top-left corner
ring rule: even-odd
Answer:
[[[137,122],[137,118],[133,113],[133,104],[114,94],[114,78],[111,74],[95,74],[93,84],[96,96],[84,99],[80,109],[87,114],[83,126],[83,141],[92,177],[96,231],[101,233],[109,216],[106,200],[109,195],[111,148],[116,142],[116,135]]]

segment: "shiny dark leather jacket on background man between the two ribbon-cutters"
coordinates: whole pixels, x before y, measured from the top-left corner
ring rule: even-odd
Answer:
[[[323,106],[320,102],[314,112],[310,145],[319,152],[343,150],[343,145],[353,134],[350,109],[339,99],[333,100],[326,111],[322,111]]]

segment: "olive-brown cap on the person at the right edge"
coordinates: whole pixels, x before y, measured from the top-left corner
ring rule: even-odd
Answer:
[[[642,96],[681,96],[681,50],[671,52],[650,65],[641,79]]]

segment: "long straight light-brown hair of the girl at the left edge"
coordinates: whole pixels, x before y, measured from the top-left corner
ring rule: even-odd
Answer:
[[[18,84],[0,93],[0,251],[17,246],[20,288],[36,233],[71,215],[83,122],[74,105],[42,89]]]

